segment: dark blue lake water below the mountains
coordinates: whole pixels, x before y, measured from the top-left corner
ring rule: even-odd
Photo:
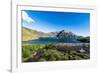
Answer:
[[[35,40],[23,41],[24,43],[30,44],[46,44],[46,43],[80,43],[76,38],[56,38],[56,37],[45,37]]]

